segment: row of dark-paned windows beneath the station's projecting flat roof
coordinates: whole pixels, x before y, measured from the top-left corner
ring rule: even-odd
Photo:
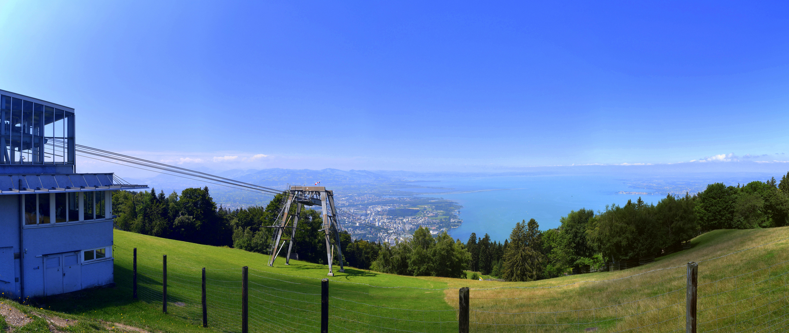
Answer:
[[[81,196],[80,196],[81,194]],[[112,200],[105,191],[23,194],[24,225],[68,223],[80,220],[80,197],[84,200],[83,220],[105,219],[107,202]]]

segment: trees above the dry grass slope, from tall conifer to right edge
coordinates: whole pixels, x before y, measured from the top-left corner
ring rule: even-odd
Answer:
[[[537,230],[533,219],[518,223],[505,242],[497,276],[509,281],[548,279],[603,268],[606,262],[671,253],[710,230],[787,226],[789,173],[780,182],[772,178],[737,186],[710,184],[694,196],[668,194],[657,204],[639,197],[603,211],[581,208],[559,223],[544,231]],[[467,244],[473,245],[473,239]],[[474,265],[473,260],[468,264]]]

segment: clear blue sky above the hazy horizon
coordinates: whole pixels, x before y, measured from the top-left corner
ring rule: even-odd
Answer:
[[[0,1],[0,89],[214,169],[789,160],[787,9]]]

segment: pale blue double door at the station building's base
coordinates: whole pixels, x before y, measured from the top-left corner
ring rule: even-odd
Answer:
[[[47,296],[82,289],[82,265],[78,251],[44,256],[44,270]]]

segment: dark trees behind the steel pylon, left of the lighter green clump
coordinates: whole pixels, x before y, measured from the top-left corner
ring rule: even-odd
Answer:
[[[268,254],[273,229],[264,226],[275,224],[284,197],[285,194],[276,195],[265,208],[231,210],[217,207],[208,187],[184,189],[181,194],[173,192],[169,196],[163,192],[157,194],[155,189],[113,191],[112,209],[113,215],[118,216],[114,224],[119,230]],[[298,253],[300,260],[326,264],[320,211],[302,209],[300,217],[294,253]],[[336,244],[335,238],[331,238],[331,244]],[[346,264],[363,269],[370,268],[381,249],[380,243],[352,240],[346,231],[340,232],[340,246]]]

